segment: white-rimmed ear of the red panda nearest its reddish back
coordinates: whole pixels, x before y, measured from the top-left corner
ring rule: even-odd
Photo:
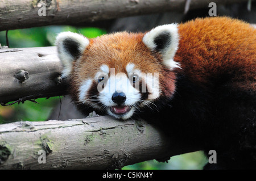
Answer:
[[[170,70],[180,68],[180,64],[174,61],[175,53],[179,47],[177,24],[155,27],[144,35],[142,41],[149,49],[156,50],[162,54],[163,65]]]

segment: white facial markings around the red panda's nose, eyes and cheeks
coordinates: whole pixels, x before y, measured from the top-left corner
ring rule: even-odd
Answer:
[[[99,95],[97,97],[97,100],[99,100],[100,103],[104,104],[106,106],[106,112],[109,113],[109,115],[117,118],[117,119],[129,119],[131,116],[133,116],[135,110],[136,110],[136,104],[141,100],[141,92],[139,92],[139,86],[136,87],[136,83],[139,85],[139,79],[142,79],[143,82],[146,82],[147,87],[142,85],[142,92],[146,92],[146,90],[150,93],[148,94],[147,102],[141,103],[141,106],[148,106],[148,101],[152,101],[153,99],[156,99],[159,97],[159,74],[158,73],[141,73],[139,69],[135,69],[134,64],[128,64],[126,66],[126,71],[129,77],[127,77],[126,73],[117,73],[115,74],[115,69],[111,68],[109,71],[109,67],[107,65],[102,65],[100,67],[100,71],[96,73],[95,79],[98,81],[101,76],[104,76],[104,80],[98,82],[98,92]],[[110,77],[109,76],[110,73]],[[133,76],[136,75],[139,77],[138,81],[133,81]],[[130,77],[131,76],[131,77]],[[79,99],[82,103],[88,103],[92,104],[94,108],[101,109],[100,106],[98,106],[95,103],[90,103],[90,95],[88,95],[88,90],[92,86],[93,79],[86,80],[81,83],[80,89],[79,89]],[[103,86],[104,85],[104,86]],[[135,87],[134,87],[135,86]],[[99,89],[100,87],[100,89]],[[102,89],[102,87],[104,87]],[[144,91],[143,91],[144,90]],[[112,96],[114,92],[123,92],[125,93],[126,100],[123,103],[123,106],[129,106],[130,111],[124,113],[124,114],[116,114],[111,111],[111,108],[114,106],[119,106],[117,103],[114,103],[112,100]],[[151,99],[151,100],[150,100]]]

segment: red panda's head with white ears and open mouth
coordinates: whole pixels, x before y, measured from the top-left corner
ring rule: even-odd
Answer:
[[[178,44],[177,24],[90,40],[72,32],[56,38],[62,77],[70,81],[75,104],[117,119],[129,119],[174,94]]]

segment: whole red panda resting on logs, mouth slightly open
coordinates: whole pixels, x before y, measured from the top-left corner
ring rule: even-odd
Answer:
[[[216,150],[205,169],[256,169],[256,29],[226,17],[56,37],[73,102],[116,119],[140,118],[171,140]]]

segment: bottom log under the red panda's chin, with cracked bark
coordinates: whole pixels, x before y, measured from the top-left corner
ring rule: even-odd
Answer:
[[[107,116],[0,125],[0,169],[120,169],[195,151],[179,148],[144,121]],[[39,150],[46,163],[39,164]]]

